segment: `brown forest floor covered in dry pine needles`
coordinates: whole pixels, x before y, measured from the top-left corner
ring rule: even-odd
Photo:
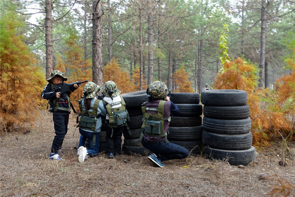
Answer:
[[[146,156],[104,153],[78,162],[79,131],[70,115],[62,161],[48,159],[55,135],[52,114],[42,111],[34,128],[0,137],[1,197],[295,197],[295,142],[281,166],[282,148],[257,150],[256,161],[234,166],[200,155],[155,167]],[[75,132],[74,132],[75,131]]]

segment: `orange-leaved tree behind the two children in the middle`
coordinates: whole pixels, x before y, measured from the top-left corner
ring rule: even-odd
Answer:
[[[104,82],[114,81],[121,94],[136,91],[136,86],[130,80],[130,75],[119,66],[116,58],[113,58],[104,67],[103,80]]]

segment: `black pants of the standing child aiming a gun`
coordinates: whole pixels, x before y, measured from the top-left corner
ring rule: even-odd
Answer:
[[[53,115],[53,122],[56,135],[52,142],[51,152],[57,153],[62,145],[64,136],[67,133],[69,115]]]

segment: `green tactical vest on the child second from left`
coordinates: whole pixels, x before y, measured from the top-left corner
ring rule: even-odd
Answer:
[[[81,112],[81,117],[79,120],[79,127],[84,130],[95,132],[96,120],[97,120],[97,107],[99,104],[99,99],[96,99],[93,107],[90,107],[92,111],[86,111],[83,99],[79,101],[79,108]]]

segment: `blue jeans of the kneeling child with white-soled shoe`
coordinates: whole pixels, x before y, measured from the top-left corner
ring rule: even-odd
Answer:
[[[79,141],[79,147],[84,146],[86,138],[89,139],[89,148],[87,149],[88,155],[95,156],[95,154],[99,153],[99,141],[100,141],[100,132],[96,133],[96,140],[95,145],[93,146],[93,132],[84,131],[83,129],[79,128],[79,132],[81,134],[80,141]]]

